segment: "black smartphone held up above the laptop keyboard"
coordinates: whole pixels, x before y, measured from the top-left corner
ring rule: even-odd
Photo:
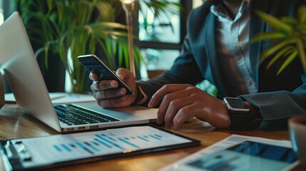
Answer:
[[[78,56],[78,61],[91,73],[96,73],[98,81],[100,80],[116,80],[118,82],[118,88],[126,88],[127,95],[133,95],[133,90],[124,83],[110,68],[108,68],[100,58],[96,55],[84,55]]]

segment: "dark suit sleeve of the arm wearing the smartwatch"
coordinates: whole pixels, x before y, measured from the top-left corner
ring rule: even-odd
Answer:
[[[302,81],[302,86],[292,92],[278,90],[241,97],[259,108],[263,118],[261,128],[283,128],[287,126],[287,118],[306,114],[306,75],[302,76]]]

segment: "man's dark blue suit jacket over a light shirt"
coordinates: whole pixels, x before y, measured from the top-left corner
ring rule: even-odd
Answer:
[[[250,38],[257,33],[270,30],[254,14],[254,10],[265,11],[274,16],[295,16],[297,7],[306,4],[299,0],[253,0],[251,1]],[[207,4],[190,13],[187,29],[188,35],[183,42],[180,56],[170,71],[150,81],[138,81],[150,98],[156,90],[168,83],[189,83],[195,85],[204,79],[218,88],[218,98],[233,96],[220,75],[215,52],[215,16],[210,13]],[[260,109],[264,120],[286,119],[292,115],[306,114],[306,75],[298,58],[276,75],[282,61],[265,70],[265,63],[258,67],[258,59],[263,50],[271,46],[271,41],[250,44],[250,63],[253,78],[260,93],[240,95]],[[230,74],[230,73],[228,73]]]

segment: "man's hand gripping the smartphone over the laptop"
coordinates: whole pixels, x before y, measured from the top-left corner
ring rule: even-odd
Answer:
[[[126,95],[126,88],[118,88],[115,80],[98,80],[95,73],[90,73],[89,78],[93,81],[91,90],[98,105],[103,108],[119,108],[131,105],[136,100],[136,81],[133,74],[125,68],[119,68],[116,75],[123,80],[135,92],[134,95]]]

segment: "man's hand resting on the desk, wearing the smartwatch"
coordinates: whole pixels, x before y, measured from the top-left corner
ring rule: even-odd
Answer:
[[[165,122],[165,128],[172,125],[179,129],[188,118],[198,118],[216,128],[228,128],[230,117],[223,100],[214,98],[192,85],[169,84],[160,88],[148,103],[155,106],[160,100],[157,122]]]

